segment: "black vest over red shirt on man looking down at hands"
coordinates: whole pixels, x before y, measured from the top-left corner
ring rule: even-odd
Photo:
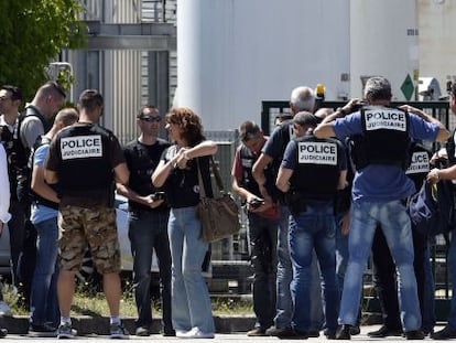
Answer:
[[[257,181],[254,181],[253,178],[253,164],[258,160],[258,156],[254,156],[245,144],[240,148],[240,159],[241,164],[243,169],[242,173],[242,180],[241,180],[241,186],[248,190],[250,193],[262,197],[260,189],[258,186]],[[273,200],[275,196],[275,180],[274,180],[274,171],[272,169],[272,165],[269,164],[264,170],[264,178],[265,178],[265,189],[268,191],[268,194],[270,194]]]

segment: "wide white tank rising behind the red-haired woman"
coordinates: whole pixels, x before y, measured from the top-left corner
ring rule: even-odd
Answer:
[[[296,86],[348,92],[349,0],[178,0],[177,99],[206,130],[260,122]]]

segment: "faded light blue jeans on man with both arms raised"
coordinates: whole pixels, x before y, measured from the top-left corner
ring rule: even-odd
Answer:
[[[344,280],[339,323],[356,325],[362,274],[370,254],[376,227],[381,225],[395,262],[399,307],[404,331],[421,329],[420,302],[413,269],[413,239],[409,215],[401,201],[351,204],[349,260]]]

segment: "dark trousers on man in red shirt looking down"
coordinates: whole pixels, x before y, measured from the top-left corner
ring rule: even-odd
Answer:
[[[253,312],[257,328],[268,329],[275,315],[278,221],[248,212]]]

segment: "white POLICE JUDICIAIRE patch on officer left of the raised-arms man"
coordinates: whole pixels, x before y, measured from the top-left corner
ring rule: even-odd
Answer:
[[[337,144],[329,142],[297,142],[297,162],[301,164],[337,164]]]

